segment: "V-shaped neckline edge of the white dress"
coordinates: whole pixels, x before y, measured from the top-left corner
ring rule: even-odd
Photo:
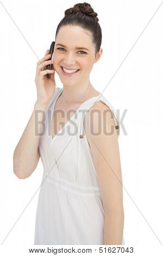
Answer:
[[[55,137],[58,136],[59,132],[61,132],[63,129],[65,129],[66,125],[67,125],[68,123],[70,123],[70,121],[74,118],[74,116],[75,116],[76,113],[79,111],[79,109],[82,108],[82,106],[83,106],[87,101],[89,101],[89,100],[91,100],[91,99],[93,99],[93,98],[96,98],[96,97],[98,97],[98,96],[101,94],[101,93],[99,93],[97,96],[90,97],[90,99],[84,101],[84,102],[79,106],[79,108],[76,110],[76,112],[74,112],[74,114],[72,115],[72,117],[66,122],[66,124],[65,124],[64,126],[62,126],[62,128],[61,128],[61,129],[56,133],[56,135],[52,138],[52,119],[53,119],[54,109],[55,109],[56,102],[57,102],[59,96],[62,94],[63,90],[64,90],[63,88],[60,90],[58,96],[54,99],[54,102],[52,103],[52,108],[51,108],[51,113],[52,113],[52,114],[51,114],[51,122],[50,122],[50,126],[51,126],[51,135],[50,135],[50,137],[51,137],[51,143],[54,141]]]

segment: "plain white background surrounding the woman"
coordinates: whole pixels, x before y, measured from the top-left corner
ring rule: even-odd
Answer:
[[[0,3],[0,238],[3,255],[16,251],[16,247],[17,250],[21,248],[17,255],[22,252],[28,255],[28,248],[34,248],[42,162],[40,159],[29,178],[21,180],[13,173],[12,157],[36,101],[36,63],[55,40],[55,31],[64,11],[79,2],[28,0]],[[115,109],[120,109],[120,117],[127,109],[119,138],[125,246],[134,246],[137,252],[143,245],[144,250],[159,251],[163,243],[163,4],[159,8],[159,0],[89,3],[98,14],[103,48],[101,59],[93,66],[91,83],[103,92]],[[57,74],[55,81],[62,87]]]

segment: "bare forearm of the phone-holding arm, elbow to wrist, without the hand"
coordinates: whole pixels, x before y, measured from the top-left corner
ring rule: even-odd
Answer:
[[[20,179],[30,176],[40,159],[38,150],[40,134],[46,106],[35,103],[33,113],[28,121],[13,156],[13,168],[15,175]]]

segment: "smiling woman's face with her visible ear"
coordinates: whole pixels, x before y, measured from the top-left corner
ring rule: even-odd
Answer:
[[[77,49],[78,47],[78,49]],[[88,81],[93,64],[102,54],[102,48],[95,54],[90,32],[78,26],[64,26],[59,29],[55,39],[53,65],[62,84],[77,85]],[[66,74],[65,69],[73,70],[73,74]]]

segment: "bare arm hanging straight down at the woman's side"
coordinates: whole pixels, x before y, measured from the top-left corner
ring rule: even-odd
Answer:
[[[112,112],[103,102],[85,115],[84,127],[90,144],[104,208],[104,245],[122,245],[124,210],[118,134]]]

